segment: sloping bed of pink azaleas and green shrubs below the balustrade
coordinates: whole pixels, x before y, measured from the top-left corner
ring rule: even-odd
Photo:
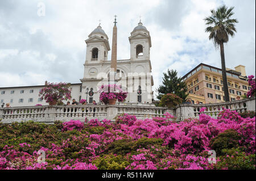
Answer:
[[[0,124],[0,169],[255,169],[255,117]],[[38,150],[46,162],[38,163]],[[209,150],[216,150],[210,163]]]

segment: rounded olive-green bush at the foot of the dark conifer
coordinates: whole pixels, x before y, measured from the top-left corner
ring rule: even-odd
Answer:
[[[161,100],[160,100],[160,103],[159,103],[159,106],[162,106],[162,107],[176,107],[178,104],[181,104],[182,103],[182,99],[175,95],[175,94],[166,94],[166,95],[163,95]]]

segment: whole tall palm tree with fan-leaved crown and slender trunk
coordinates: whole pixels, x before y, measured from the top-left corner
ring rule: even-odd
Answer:
[[[231,19],[234,14],[232,11],[234,7],[220,6],[217,10],[210,10],[212,15],[205,18],[205,24],[209,27],[205,29],[205,32],[209,32],[209,40],[213,40],[216,48],[220,46],[221,53],[221,67],[222,67],[222,79],[224,86],[225,101],[229,101],[228,81],[226,79],[226,65],[224,55],[224,43],[228,43],[229,35],[234,36],[234,32],[237,32],[235,23],[238,23],[237,19]]]

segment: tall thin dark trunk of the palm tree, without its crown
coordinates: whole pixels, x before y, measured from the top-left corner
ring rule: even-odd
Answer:
[[[225,55],[224,55],[224,44],[220,44],[221,50],[221,68],[222,68],[222,79],[223,79],[223,87],[225,94],[225,102],[229,102],[229,88],[228,88],[228,80],[226,79],[226,65],[225,65]]]

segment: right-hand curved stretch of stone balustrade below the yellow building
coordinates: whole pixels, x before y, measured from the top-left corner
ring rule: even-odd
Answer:
[[[237,112],[255,111],[255,97],[250,99],[236,100],[233,102],[214,103],[214,104],[180,104],[176,108],[178,120],[188,118],[198,118],[200,109],[205,107],[205,114],[217,118],[218,113],[225,109],[236,110]]]

